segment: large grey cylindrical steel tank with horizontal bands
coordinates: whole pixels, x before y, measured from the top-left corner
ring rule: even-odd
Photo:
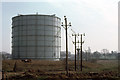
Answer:
[[[59,59],[61,19],[55,15],[18,15],[12,18],[13,59]]]

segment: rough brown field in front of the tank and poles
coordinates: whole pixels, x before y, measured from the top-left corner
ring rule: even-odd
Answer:
[[[80,71],[80,65],[77,66],[77,71],[75,71],[74,61],[69,61],[69,75],[67,76],[65,60],[2,61],[4,78],[7,78],[7,80],[77,80],[88,78],[119,80],[117,60],[83,61],[82,67],[82,72]]]

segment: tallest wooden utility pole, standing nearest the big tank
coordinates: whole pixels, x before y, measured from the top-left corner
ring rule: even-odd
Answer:
[[[66,73],[67,73],[67,76],[68,76],[68,40],[67,40],[67,29],[68,27],[67,26],[71,26],[71,23],[69,23],[69,25],[67,25],[67,18],[66,16],[64,16],[64,20],[65,20],[65,25],[62,25],[61,26],[65,26],[65,30],[66,30]]]

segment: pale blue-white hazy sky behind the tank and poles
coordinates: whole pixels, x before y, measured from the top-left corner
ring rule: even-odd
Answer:
[[[71,37],[76,33],[85,33],[83,50],[118,50],[118,1],[119,0],[2,0],[2,27],[0,28],[0,51],[11,53],[11,18],[17,14],[56,14],[64,21],[64,15],[72,23],[69,28],[69,51],[74,52]],[[20,1],[20,2],[19,2]],[[38,1],[38,2],[36,2]],[[61,27],[62,28],[62,27]],[[61,50],[65,50],[65,30],[61,31]]]

